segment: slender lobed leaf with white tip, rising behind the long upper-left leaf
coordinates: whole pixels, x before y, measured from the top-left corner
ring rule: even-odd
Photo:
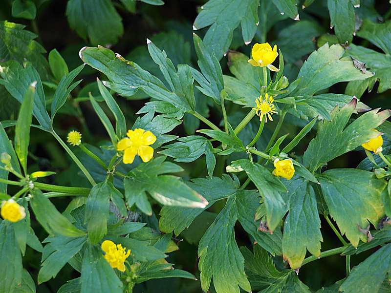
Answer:
[[[171,90],[186,104],[190,110],[195,110],[195,97],[193,92],[192,73],[190,67],[186,64],[178,64],[178,70],[175,70],[174,63],[167,58],[166,52],[163,52],[156,45],[147,39],[148,50],[153,61],[159,65],[166,82]]]

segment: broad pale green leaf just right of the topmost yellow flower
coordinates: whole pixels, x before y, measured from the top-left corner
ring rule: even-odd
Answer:
[[[353,80],[363,80],[373,76],[367,71],[363,74],[357,69],[351,58],[341,58],[345,49],[341,45],[328,46],[326,43],[314,51],[300,69],[300,82],[290,96],[312,96],[329,86]]]

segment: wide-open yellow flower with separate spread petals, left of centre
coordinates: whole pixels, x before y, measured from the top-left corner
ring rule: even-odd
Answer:
[[[153,148],[151,145],[156,141],[156,136],[151,131],[141,128],[128,130],[128,137],[121,139],[117,144],[117,150],[124,150],[124,164],[131,164],[134,157],[139,155],[144,163],[153,158]]]

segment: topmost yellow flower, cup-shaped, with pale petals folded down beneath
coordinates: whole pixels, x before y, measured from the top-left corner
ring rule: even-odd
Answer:
[[[261,67],[267,66],[267,68],[272,71],[279,71],[277,67],[271,64],[278,56],[277,45],[274,45],[272,49],[268,42],[262,44],[256,43],[251,50],[251,56],[253,59],[248,61],[251,65]]]

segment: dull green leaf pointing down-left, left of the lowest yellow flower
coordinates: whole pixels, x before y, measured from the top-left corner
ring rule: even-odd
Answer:
[[[86,243],[87,237],[47,237],[43,242],[47,244],[43,248],[42,268],[38,273],[38,283],[41,284],[55,278],[65,264],[79,252]]]

